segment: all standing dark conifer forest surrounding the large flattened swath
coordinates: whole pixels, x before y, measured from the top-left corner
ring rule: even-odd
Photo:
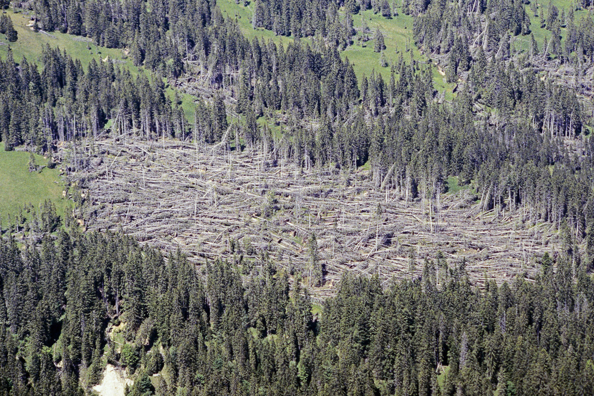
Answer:
[[[132,77],[110,62],[83,68],[49,48],[38,68],[26,59],[17,64],[8,50],[0,62],[7,150],[26,143],[50,152],[55,140],[100,138],[108,120],[115,122],[108,133],[131,138],[195,138],[198,145],[225,137],[226,150],[243,142],[320,175],[368,164],[371,188],[399,191],[407,201],[438,199],[450,175],[472,180],[482,210],[522,210],[529,224],[551,221],[565,242],[559,255],[538,258],[542,277],[534,282],[487,281],[482,290],[470,287],[464,263],[448,266],[443,256],[427,259],[421,278],[411,265],[410,281],[386,289],[377,277],[345,274],[337,296],[314,317],[307,290],[299,280],[290,286],[289,274],[266,254],[242,258],[241,268],[223,259],[198,269],[179,253],[164,258],[122,235],[59,230],[61,220],[45,202],[30,224],[39,240],[22,249],[10,232],[0,240],[0,393],[81,394],[83,373],[84,385],[100,381],[104,350],[135,372],[134,395],[594,392],[589,109],[573,88],[516,65],[510,37],[529,34],[521,1],[403,2],[415,18],[416,43],[444,55],[448,81],[460,81],[450,103],[436,93],[431,67],[405,62],[402,52],[391,62],[389,82],[374,71],[359,90],[352,64],[339,53],[352,41],[350,13],[374,8],[390,17],[396,8],[387,1],[250,5],[255,27],[325,37],[311,45],[250,42],[206,0],[148,7],[136,0],[50,0],[32,7],[40,28],[129,47],[134,64],[156,74]],[[484,24],[469,15],[488,20],[482,43],[474,38]],[[576,24],[570,15],[549,7],[550,40],[540,50],[531,40],[530,62],[592,64],[594,23]],[[14,28],[1,18],[8,36]],[[386,49],[379,29],[374,41],[376,52]],[[216,91],[197,98],[191,126],[179,96],[171,103],[160,78],[192,77],[189,65],[201,66],[201,80]],[[237,105],[228,108],[233,99]],[[229,125],[233,110],[241,122]],[[282,139],[269,119],[258,123],[271,113],[288,119]],[[71,148],[68,171],[88,166]],[[269,192],[263,217],[276,210]],[[583,257],[575,249],[580,242]],[[308,268],[301,268],[312,286],[324,283],[317,243],[311,235]],[[257,254],[249,240],[234,241],[232,250]],[[125,340],[116,347],[106,335],[120,322]],[[437,374],[444,367],[442,388]],[[153,387],[154,373],[167,378],[156,377]]]

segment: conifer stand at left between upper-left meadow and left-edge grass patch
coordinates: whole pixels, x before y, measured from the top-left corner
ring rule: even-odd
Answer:
[[[96,137],[109,118],[117,119],[119,133],[159,138],[163,131],[176,137],[189,132],[176,121],[176,109],[159,78],[150,83],[144,74],[132,78],[110,62],[94,60],[85,70],[79,61],[49,47],[42,63],[41,72],[26,59],[17,65],[11,51],[0,61],[5,76],[0,97],[7,104],[0,107],[0,132],[7,150],[27,141],[48,151],[53,140]],[[84,166],[72,160],[75,169]]]

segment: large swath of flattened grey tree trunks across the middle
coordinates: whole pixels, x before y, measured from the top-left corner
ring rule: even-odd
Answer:
[[[437,208],[376,189],[364,170],[305,173],[292,163],[248,150],[219,151],[179,141],[93,143],[102,160],[72,177],[88,195],[89,229],[119,229],[163,251],[181,248],[205,259],[263,257],[305,275],[315,233],[332,292],[346,269],[418,277],[425,258],[443,252],[466,260],[472,280],[534,277],[536,258],[558,248],[551,224],[530,227],[520,214],[482,213],[469,191],[441,196]]]

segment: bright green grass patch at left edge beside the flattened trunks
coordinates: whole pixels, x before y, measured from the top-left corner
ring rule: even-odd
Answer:
[[[35,155],[37,165],[48,163],[42,156]],[[31,203],[35,208],[50,199],[58,214],[64,214],[67,201],[62,199],[64,186],[58,182],[59,170],[43,168],[42,172],[29,172],[29,153],[4,151],[0,143],[0,218],[5,221],[10,214],[14,217],[18,208]]]

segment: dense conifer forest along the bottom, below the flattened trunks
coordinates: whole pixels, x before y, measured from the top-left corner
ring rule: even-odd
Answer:
[[[129,395],[594,391],[594,283],[565,254],[545,255],[535,281],[486,281],[482,290],[441,254],[420,278],[386,288],[377,276],[345,273],[313,316],[307,290],[269,261],[243,276],[207,262],[204,280],[181,254],[165,261],[122,235],[72,230],[56,242],[20,249],[10,235],[0,239],[7,395],[81,394],[81,368],[88,385],[100,381],[103,343],[114,346],[106,330],[119,318],[130,330],[109,359],[136,371]]]

